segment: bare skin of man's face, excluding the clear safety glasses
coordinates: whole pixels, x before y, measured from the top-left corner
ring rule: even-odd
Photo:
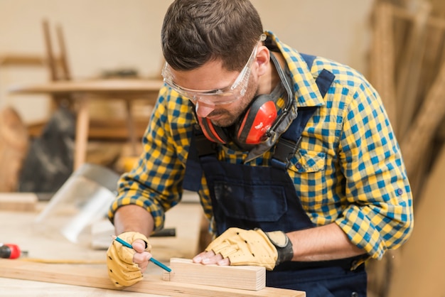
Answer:
[[[198,69],[176,71],[170,69],[176,85],[190,90],[224,90],[231,86],[240,72],[225,70],[220,60],[211,60]],[[252,65],[249,65],[252,67]],[[248,69],[250,72],[250,68]],[[246,77],[247,78],[247,77]],[[240,117],[257,93],[258,81],[253,73],[249,73],[245,81],[244,94],[237,94],[235,101],[229,103],[218,102],[218,96],[206,96],[203,99],[191,99],[195,104],[198,117],[207,117],[216,126],[230,126]],[[215,98],[217,104],[212,102]]]

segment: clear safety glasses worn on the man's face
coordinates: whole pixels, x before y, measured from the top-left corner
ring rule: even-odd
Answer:
[[[264,41],[266,36],[262,34],[259,37],[259,41]],[[171,72],[170,65],[166,63],[162,70],[163,81],[171,87],[173,90],[178,92],[179,95],[190,99],[193,103],[203,102],[207,104],[227,104],[235,102],[237,99],[245,95],[247,90],[247,83],[250,77],[250,68],[252,63],[257,56],[258,43],[255,45],[252,54],[250,54],[249,60],[244,68],[242,68],[240,75],[235,79],[232,85],[223,87],[222,89],[216,90],[191,90],[186,87],[181,87],[177,85],[173,80],[173,73]]]

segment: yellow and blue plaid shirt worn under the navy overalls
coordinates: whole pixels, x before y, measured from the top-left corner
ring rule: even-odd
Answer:
[[[380,259],[407,240],[413,212],[400,148],[379,95],[345,65],[318,57],[309,70],[296,50],[267,35],[286,59],[297,106],[318,106],[288,168],[304,210],[315,225],[336,222],[353,244]],[[315,82],[323,69],[336,76],[324,98]],[[151,212],[156,229],[163,227],[164,213],[181,200],[193,124],[188,100],[164,85],[142,141],[144,153],[119,180],[110,220],[122,205],[135,204]],[[243,163],[246,157],[235,146],[218,147],[221,161]],[[267,151],[246,165],[269,166],[271,157]],[[198,194],[212,220],[204,177]]]

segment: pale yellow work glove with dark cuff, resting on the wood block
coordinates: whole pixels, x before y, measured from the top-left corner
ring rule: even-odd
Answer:
[[[230,259],[230,265],[263,266],[274,269],[294,257],[292,242],[282,231],[229,228],[205,249]]]

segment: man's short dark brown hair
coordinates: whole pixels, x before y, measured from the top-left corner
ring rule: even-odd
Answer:
[[[175,0],[163,20],[163,56],[175,70],[215,59],[229,71],[241,70],[262,33],[249,0]]]

